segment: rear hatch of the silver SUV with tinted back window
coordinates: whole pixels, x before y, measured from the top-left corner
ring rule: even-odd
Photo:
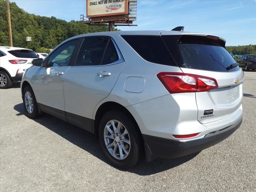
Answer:
[[[162,35],[180,69],[186,74],[214,78],[218,88],[195,92],[198,121],[227,118],[242,103],[244,72],[225,49],[225,41],[206,35]]]

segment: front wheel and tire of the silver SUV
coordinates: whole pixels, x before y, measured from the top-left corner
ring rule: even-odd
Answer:
[[[38,105],[36,97],[30,86],[26,86],[22,92],[23,106],[26,116],[30,119],[34,119],[40,116],[38,111]]]

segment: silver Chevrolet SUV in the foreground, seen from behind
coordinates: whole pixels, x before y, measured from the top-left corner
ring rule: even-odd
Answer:
[[[99,139],[118,168],[208,148],[242,123],[244,73],[225,40],[183,31],[84,34],[33,60],[26,115],[43,112]]]

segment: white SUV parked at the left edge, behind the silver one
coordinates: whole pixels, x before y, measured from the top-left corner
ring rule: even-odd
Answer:
[[[33,50],[0,46],[0,88],[10,88],[12,82],[20,81],[34,58],[38,56]]]

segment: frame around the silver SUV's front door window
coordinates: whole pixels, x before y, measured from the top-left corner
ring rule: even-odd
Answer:
[[[78,40],[78,44],[77,44],[76,48],[74,49],[74,51],[72,52],[72,55],[71,55],[71,58],[70,58],[70,63],[72,63],[72,65],[69,65],[69,66],[48,66],[48,61],[49,61],[50,56],[51,56],[54,52],[56,52],[56,50],[58,50],[58,48],[60,48],[61,46],[65,45],[65,44],[67,44],[67,43],[69,43],[69,42],[71,42],[71,41],[75,41],[75,40]],[[44,68],[59,68],[59,67],[60,67],[60,68],[64,68],[64,67],[72,67],[72,66],[74,66],[74,64],[75,64],[75,63],[74,63],[74,61],[75,61],[75,56],[76,56],[76,54],[77,54],[78,48],[80,48],[81,40],[82,40],[82,38],[71,39],[71,40],[69,40],[69,41],[67,41],[67,42],[65,42],[65,43],[60,44],[60,45],[57,46],[56,48],[54,48],[54,51],[51,52],[50,54],[48,54],[48,55],[45,57],[45,59],[44,59],[44,61],[43,61],[43,66],[42,66],[42,67],[44,67]],[[74,53],[74,54],[73,54],[73,53]]]

